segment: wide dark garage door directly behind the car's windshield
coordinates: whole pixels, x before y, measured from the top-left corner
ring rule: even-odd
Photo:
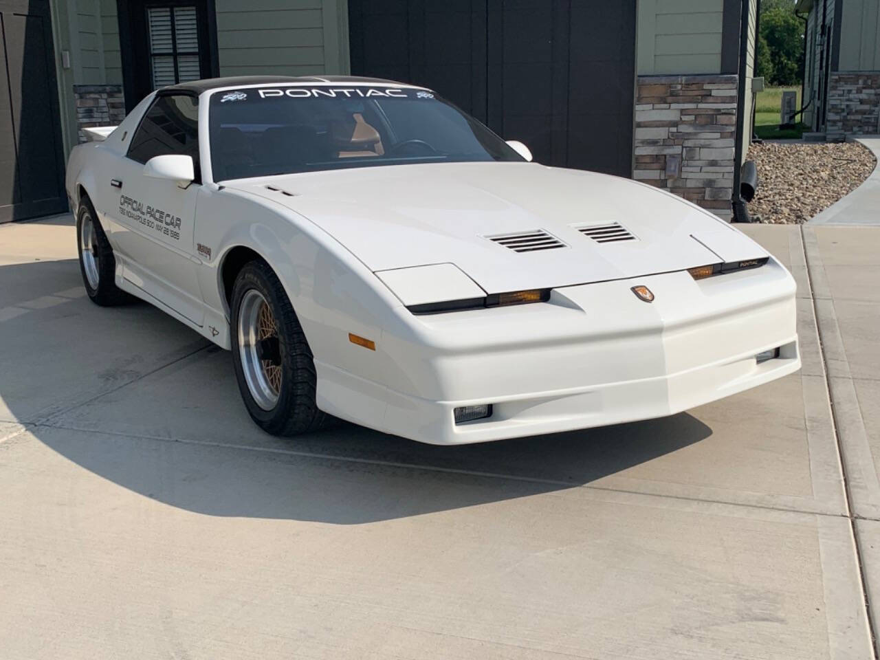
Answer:
[[[635,3],[348,0],[352,73],[424,84],[535,159],[632,173]]]

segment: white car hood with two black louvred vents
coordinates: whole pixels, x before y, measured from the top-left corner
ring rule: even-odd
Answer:
[[[488,293],[766,256],[729,224],[671,194],[533,163],[387,165],[225,186],[307,217],[373,272],[452,263]],[[607,224],[620,224],[633,238],[600,242],[581,231]],[[541,246],[553,238],[561,246],[517,252],[511,249],[523,245],[517,238],[498,240],[538,232],[551,237]]]

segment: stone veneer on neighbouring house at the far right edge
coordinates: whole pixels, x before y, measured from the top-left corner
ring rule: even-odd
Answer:
[[[831,139],[880,133],[880,71],[831,74],[825,132]]]

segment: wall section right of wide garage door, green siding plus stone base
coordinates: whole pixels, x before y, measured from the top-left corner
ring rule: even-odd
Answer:
[[[634,179],[730,219],[737,163],[752,137],[757,0],[749,0],[746,95],[737,106],[741,4],[638,0]]]

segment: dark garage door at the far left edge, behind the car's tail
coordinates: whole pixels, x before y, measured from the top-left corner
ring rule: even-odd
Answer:
[[[0,0],[0,222],[67,209],[48,0]]]

